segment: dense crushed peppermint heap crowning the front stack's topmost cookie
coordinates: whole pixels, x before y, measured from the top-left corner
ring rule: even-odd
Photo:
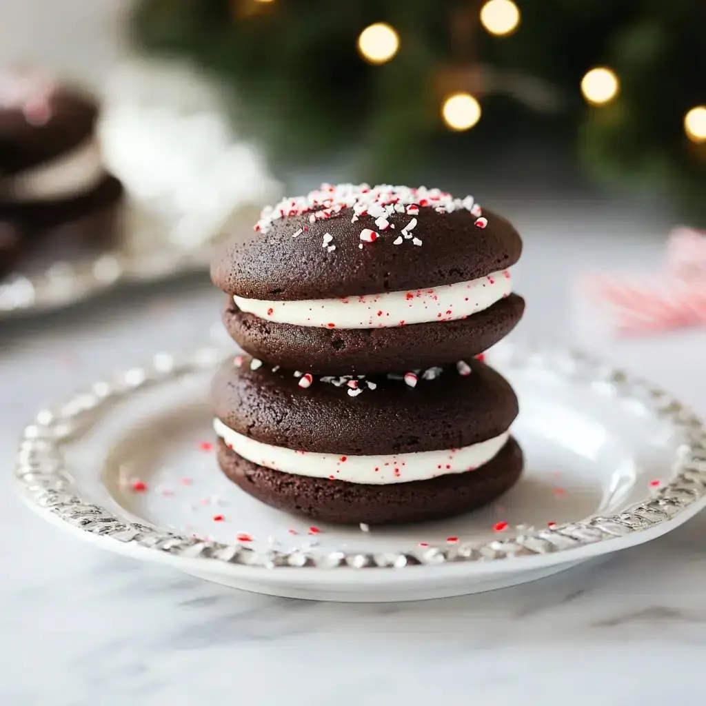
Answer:
[[[465,208],[476,217],[480,217],[482,213],[472,196],[462,199],[453,198],[446,191],[427,189],[426,186],[410,189],[409,186],[389,184],[373,187],[368,184],[339,184],[338,186],[322,184],[319,189],[309,192],[306,196],[284,198],[274,206],[266,206],[254,229],[264,234],[277,220],[304,214],[309,215],[310,223],[315,223],[318,220],[335,217],[344,208],[353,209],[352,223],[360,217],[369,216],[376,222],[379,221],[379,224],[383,224],[378,224],[381,230],[393,227],[388,220],[388,215],[405,212],[409,215],[417,215],[419,208],[434,208],[439,213],[452,213]],[[385,222],[388,225],[384,225]],[[301,229],[297,230],[292,237],[296,238],[300,233]]]

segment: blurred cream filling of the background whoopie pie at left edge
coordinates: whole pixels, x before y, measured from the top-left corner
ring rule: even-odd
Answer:
[[[100,146],[92,138],[54,160],[6,177],[0,193],[13,201],[54,201],[90,191],[104,174]]]

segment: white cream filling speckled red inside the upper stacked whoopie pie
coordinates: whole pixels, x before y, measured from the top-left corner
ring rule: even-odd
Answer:
[[[241,311],[265,321],[323,328],[388,328],[455,321],[489,309],[513,291],[508,270],[454,285],[341,299],[263,301],[233,297]]]

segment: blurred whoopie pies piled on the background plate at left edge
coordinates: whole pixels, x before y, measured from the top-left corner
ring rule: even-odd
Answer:
[[[98,114],[40,73],[0,71],[0,275],[30,253],[48,261],[114,241],[123,187],[104,169]]]

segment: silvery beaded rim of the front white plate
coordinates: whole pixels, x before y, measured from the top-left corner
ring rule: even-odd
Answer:
[[[491,542],[429,546],[419,551],[387,554],[322,552],[316,551],[316,548],[258,551],[243,544],[211,542],[160,527],[128,522],[82,498],[71,474],[66,472],[62,445],[67,441],[77,441],[82,431],[100,419],[104,411],[121,398],[150,386],[166,385],[193,373],[215,369],[225,356],[225,351],[208,347],[185,355],[157,353],[145,366],[132,367],[109,380],[97,381],[63,405],[37,412],[32,422],[25,426],[20,440],[15,465],[18,489],[35,510],[41,514],[49,513],[51,519],[59,524],[64,523],[94,537],[121,543],[124,547],[140,547],[163,558],[169,555],[177,561],[198,559],[199,563],[216,562],[269,569],[400,569],[453,563],[496,563],[509,558],[556,556],[560,553],[563,555],[561,561],[572,561],[578,558],[575,550],[582,547],[621,537],[635,537],[676,520],[680,515],[686,519],[693,515],[694,503],[706,500],[706,425],[665,390],[607,366],[583,352],[546,351],[527,345],[503,344],[502,353],[498,355],[510,366],[551,370],[593,385],[599,393],[646,405],[683,438],[669,481],[651,489],[644,500],[633,503],[617,515],[587,517],[578,522]]]

